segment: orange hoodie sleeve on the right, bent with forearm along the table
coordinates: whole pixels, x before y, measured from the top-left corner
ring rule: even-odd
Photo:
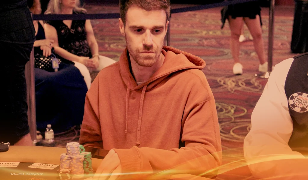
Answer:
[[[213,93],[203,72],[203,76],[189,71],[186,73],[191,73],[188,76],[193,79],[187,84],[192,88],[182,119],[181,140],[185,147],[171,150],[149,147],[114,149],[123,172],[152,171],[159,177],[185,173],[202,175],[215,171],[221,165],[221,139]]]

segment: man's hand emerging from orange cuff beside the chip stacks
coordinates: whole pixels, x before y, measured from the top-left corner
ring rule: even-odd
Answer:
[[[93,180],[115,180],[121,171],[120,158],[112,149],[97,168]]]

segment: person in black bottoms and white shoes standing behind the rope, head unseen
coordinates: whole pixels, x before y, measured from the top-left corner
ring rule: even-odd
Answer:
[[[233,74],[242,74],[243,66],[239,60],[240,36],[243,28],[243,20],[253,37],[253,45],[259,58],[260,72],[267,72],[267,61],[265,60],[264,43],[262,39],[261,8],[258,1],[245,2],[229,5],[221,11],[222,28],[225,20],[228,19],[231,29],[230,49],[234,60]]]

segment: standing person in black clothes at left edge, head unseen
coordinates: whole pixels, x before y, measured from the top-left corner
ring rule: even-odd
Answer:
[[[0,141],[32,146],[28,126],[25,65],[30,59],[35,30],[27,0],[0,1]],[[6,58],[4,58],[6,57]]]

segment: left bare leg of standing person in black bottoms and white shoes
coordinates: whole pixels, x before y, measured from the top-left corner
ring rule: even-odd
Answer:
[[[229,16],[229,25],[231,29],[230,49],[232,57],[234,59],[234,63],[239,63],[240,42],[238,39],[240,38],[241,29],[243,27],[243,18],[237,17],[236,19],[232,19],[231,16]]]

